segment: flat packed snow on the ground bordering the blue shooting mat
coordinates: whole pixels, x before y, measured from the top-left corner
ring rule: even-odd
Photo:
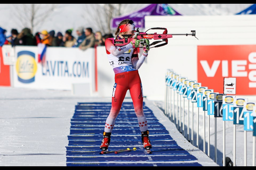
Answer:
[[[0,87],[0,94],[0,166],[66,166],[65,147],[75,105],[111,102],[111,97],[76,97],[62,90]],[[183,138],[154,101],[144,101],[177,144],[194,155],[199,164],[217,165]]]

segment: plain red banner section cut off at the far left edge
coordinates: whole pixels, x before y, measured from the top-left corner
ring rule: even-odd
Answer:
[[[0,47],[0,86],[11,86],[10,66],[3,65],[2,47]]]

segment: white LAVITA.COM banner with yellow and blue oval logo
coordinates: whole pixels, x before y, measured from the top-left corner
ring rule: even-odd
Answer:
[[[94,79],[94,49],[47,47],[42,65],[37,46],[16,46],[15,57],[14,87],[71,90],[72,84],[91,84]]]

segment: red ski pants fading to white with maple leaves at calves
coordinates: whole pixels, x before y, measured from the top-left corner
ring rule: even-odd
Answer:
[[[133,107],[138,118],[138,124],[141,131],[148,130],[147,119],[143,112],[143,91],[141,78],[138,70],[127,71],[115,74],[115,85],[112,94],[112,107],[105,123],[105,132],[112,132],[115,125],[115,119],[119,114],[127,90],[130,90]]]

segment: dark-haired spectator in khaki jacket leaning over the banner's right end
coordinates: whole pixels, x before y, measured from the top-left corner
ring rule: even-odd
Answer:
[[[95,44],[95,36],[93,30],[91,28],[85,29],[85,40],[79,45],[79,49],[86,50],[87,48],[94,47]]]

